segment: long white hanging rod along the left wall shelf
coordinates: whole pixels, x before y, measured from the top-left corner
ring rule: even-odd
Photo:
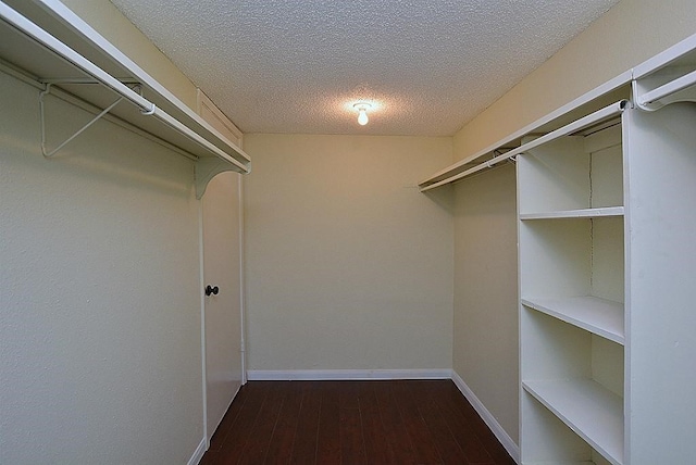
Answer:
[[[34,24],[32,21],[27,20],[25,16],[17,13],[14,9],[8,7],[2,1],[0,1],[0,17],[5,23],[17,29],[20,33],[23,33],[38,45],[53,52],[60,59],[70,63],[86,75],[91,76],[99,84],[111,89],[116,95],[138,106],[144,115],[156,115],[162,123],[166,124],[172,129],[182,134],[189,140],[198,143],[206,150],[214,153],[216,156],[237,166],[237,168],[239,168],[243,173],[249,173],[249,168],[247,166],[232,158],[229,154],[225,153],[212,142],[202,138],[199,134],[181,123],[178,120],[158,109],[154,103],[139,96],[128,86],[111,76],[109,73],[87,60],[85,56],[77,53],[75,50],[67,47],[62,41],[58,40],[55,37],[51,36],[41,27]]]

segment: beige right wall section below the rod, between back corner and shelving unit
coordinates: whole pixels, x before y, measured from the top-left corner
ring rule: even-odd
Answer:
[[[518,440],[515,172],[511,164],[456,186],[455,372]]]

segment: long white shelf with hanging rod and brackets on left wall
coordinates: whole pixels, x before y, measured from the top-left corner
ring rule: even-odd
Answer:
[[[50,91],[194,159],[199,198],[215,174],[250,171],[239,147],[58,0],[0,1],[0,68],[41,102]]]

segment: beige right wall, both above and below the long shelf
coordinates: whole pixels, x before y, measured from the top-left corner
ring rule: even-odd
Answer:
[[[694,33],[693,0],[622,0],[455,135],[455,159],[495,143]],[[518,440],[513,185],[511,167],[456,185],[453,368]]]

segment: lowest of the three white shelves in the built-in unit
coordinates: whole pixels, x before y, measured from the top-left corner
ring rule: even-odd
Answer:
[[[527,380],[522,386],[610,463],[623,463],[619,395],[591,379]]]

